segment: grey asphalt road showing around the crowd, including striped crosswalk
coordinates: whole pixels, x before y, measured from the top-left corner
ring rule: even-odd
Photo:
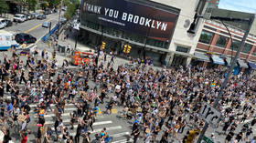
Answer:
[[[48,47],[46,44],[39,42],[40,38],[42,36],[45,36],[48,33],[48,29],[44,28],[41,26],[41,24],[44,21],[51,21],[52,22],[52,26],[56,25],[58,23],[58,14],[51,14],[48,15],[47,19],[44,20],[30,20],[27,21],[25,23],[21,23],[21,24],[17,24],[16,26],[11,26],[11,27],[7,27],[5,28],[6,31],[14,31],[17,33],[21,33],[21,32],[27,32],[28,34],[31,34],[32,36],[36,36],[37,37],[37,47],[39,50],[42,50],[44,47]],[[73,46],[74,42],[73,41],[69,41],[69,43]],[[64,42],[63,42],[64,44]],[[48,49],[49,54],[52,52],[52,49]],[[5,52],[8,53],[8,52]],[[39,54],[40,55],[40,54]],[[8,56],[10,57],[11,55],[8,54]],[[51,57],[51,56],[49,56]],[[3,57],[0,56],[1,61],[3,61],[2,59]],[[25,59],[25,57],[22,57],[23,59]],[[57,59],[59,60],[59,66],[61,66],[61,63],[63,61],[64,58],[67,58],[66,56],[59,54],[57,55]],[[110,59],[108,59],[110,60]],[[128,63],[126,61],[126,63]],[[115,61],[115,65],[120,65],[120,64],[124,64],[123,63],[123,59],[119,59],[117,58]],[[72,67],[73,68],[73,67]],[[91,87],[94,87],[94,83],[90,82],[89,85]],[[7,98],[10,98],[10,95],[5,95]],[[36,133],[37,133],[37,128],[35,126],[37,117],[35,117],[35,113],[34,113],[34,108],[37,107],[37,104],[31,104],[30,105],[32,107],[31,111],[30,111],[30,117],[31,117],[31,123],[29,123],[28,128],[31,129],[32,134],[28,135],[28,142],[29,143],[36,143]],[[53,107],[52,107],[53,108]],[[105,110],[105,105],[101,105],[101,111]],[[73,104],[68,104],[65,107],[65,113],[62,115],[62,119],[63,119],[63,123],[64,125],[67,125],[68,128],[70,128],[69,126],[69,113],[76,110],[76,107]],[[113,137],[112,143],[125,143],[125,142],[131,142],[127,141],[129,138],[129,135],[131,133],[131,125],[133,122],[133,119],[131,120],[126,120],[120,117],[120,111],[122,110],[122,107],[114,107],[113,110],[113,114],[112,115],[107,115],[107,114],[100,114],[98,117],[96,117],[96,122],[93,125],[93,129],[94,131],[92,132],[91,138],[94,139],[94,134],[97,131],[100,131],[102,128],[107,128],[107,132],[110,136]],[[187,122],[188,122],[188,116],[187,115]],[[48,114],[45,116],[46,118],[46,125],[48,127],[53,127],[54,124],[54,115],[52,114],[51,111],[48,111]],[[247,120],[246,122],[250,122],[250,120]],[[239,128],[236,129],[236,133],[240,131],[242,125],[239,125]],[[13,142],[20,142],[20,138],[18,136],[18,128],[20,127],[15,127],[15,128],[11,128],[11,137],[13,138]],[[185,128],[183,134],[178,134],[178,138],[173,138],[173,137],[169,137],[169,140],[173,140],[175,143],[180,142],[180,139],[184,137],[184,135],[186,134],[187,130],[189,128],[193,128],[191,125],[187,125],[187,128]],[[214,142],[224,142],[224,139],[226,138],[225,135],[219,135],[218,133],[220,132],[222,126],[220,126],[219,128],[208,128],[208,131],[206,133],[206,136],[209,138],[211,133],[215,133],[215,138],[212,138],[212,140],[214,140]],[[75,132],[76,129],[74,130],[70,130],[70,135],[75,136]],[[256,133],[255,128],[253,128],[253,134]],[[53,138],[51,139],[51,142],[53,142],[53,139],[56,137],[55,134],[53,134]],[[141,134],[142,135],[142,134]],[[156,140],[160,140],[162,135],[162,132],[160,132],[158,134],[158,137]],[[138,140],[139,143],[143,143],[144,140],[142,138],[140,138]]]

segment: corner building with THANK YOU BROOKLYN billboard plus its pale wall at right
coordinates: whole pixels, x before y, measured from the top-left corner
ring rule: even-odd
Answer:
[[[79,40],[94,47],[104,41],[105,49],[118,55],[128,44],[133,58],[186,66],[194,55],[202,22],[197,22],[195,36],[187,34],[187,29],[205,5],[199,0],[83,0]]]

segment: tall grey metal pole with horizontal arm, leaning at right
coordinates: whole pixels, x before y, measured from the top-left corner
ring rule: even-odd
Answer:
[[[214,19],[218,19],[218,18],[223,19],[223,18],[221,18],[221,17],[213,17],[213,18],[214,18]],[[225,78],[225,80],[223,81],[223,83],[221,84],[221,87],[220,87],[220,89],[219,89],[219,95],[218,95],[218,97],[216,98],[216,100],[215,100],[215,102],[214,102],[214,105],[213,105],[214,108],[219,105],[219,99],[220,99],[220,97],[222,97],[222,95],[223,95],[223,93],[224,93],[224,89],[225,89],[225,87],[227,86],[227,84],[228,84],[228,82],[229,82],[229,77],[230,77],[230,75],[232,74],[232,71],[233,71],[234,66],[235,66],[235,64],[236,64],[236,62],[237,62],[238,57],[240,56],[240,52],[241,52],[242,47],[243,47],[244,44],[245,44],[246,38],[247,38],[247,36],[248,36],[249,33],[250,33],[251,26],[252,26],[252,23],[253,23],[253,21],[254,21],[254,18],[255,18],[255,15],[251,15],[251,17],[250,17],[249,20],[248,20],[248,19],[239,19],[239,18],[232,19],[232,18],[229,18],[229,17],[226,18],[226,20],[228,20],[228,21],[243,21],[243,22],[247,22],[247,23],[248,23],[248,28],[247,28],[246,32],[244,33],[244,36],[243,36],[242,41],[241,41],[241,43],[240,43],[240,48],[238,49],[238,51],[237,51],[237,53],[236,53],[236,56],[235,56],[235,57],[233,58],[233,60],[231,61],[231,66],[229,67],[228,75],[227,75],[227,77]],[[197,143],[201,143],[201,141],[202,141],[202,139],[203,139],[203,137],[204,137],[204,135],[205,135],[207,129],[208,129],[208,122],[206,122],[206,124],[205,124],[205,126],[204,126],[204,128],[203,128],[203,130],[202,130],[202,132],[201,132],[201,134],[200,134],[200,136],[199,136],[199,138],[198,138],[198,140],[197,140]]]

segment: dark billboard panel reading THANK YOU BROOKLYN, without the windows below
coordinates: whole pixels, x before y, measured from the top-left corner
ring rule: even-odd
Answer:
[[[81,19],[169,41],[178,15],[125,0],[83,0]]]

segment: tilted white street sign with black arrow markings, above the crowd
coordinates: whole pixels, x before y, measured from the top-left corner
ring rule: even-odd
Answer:
[[[199,112],[200,117],[202,117],[208,124],[216,126],[221,117],[221,113],[214,107],[209,106],[204,103]]]

